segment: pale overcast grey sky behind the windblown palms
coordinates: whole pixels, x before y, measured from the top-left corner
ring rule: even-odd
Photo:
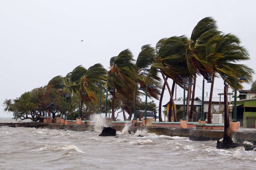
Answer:
[[[66,76],[80,64],[88,68],[101,63],[108,69],[110,58],[124,49],[137,59],[142,45],[155,47],[158,40],[175,35],[190,37],[208,16],[220,31],[240,38],[251,57],[243,64],[254,68],[255,5],[254,0],[1,0],[0,117],[12,116],[3,111],[6,98]],[[202,96],[202,78],[197,80],[196,96]],[[250,86],[244,84],[244,90]],[[223,92],[218,90],[223,89],[220,78],[214,88],[215,97]],[[183,89],[177,89],[177,96],[183,96]],[[166,91],[163,104],[168,100]]]

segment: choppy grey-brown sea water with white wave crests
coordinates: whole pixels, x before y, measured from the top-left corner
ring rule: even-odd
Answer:
[[[99,137],[105,122],[99,116],[94,121],[94,131],[0,127],[0,170],[256,169],[256,151],[243,147],[216,149],[216,141],[146,129],[129,134],[127,126],[117,137]]]

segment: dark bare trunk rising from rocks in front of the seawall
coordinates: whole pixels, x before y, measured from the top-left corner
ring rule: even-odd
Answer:
[[[224,83],[224,136],[223,136],[223,145],[230,145],[233,143],[230,126],[228,120],[228,84]]]

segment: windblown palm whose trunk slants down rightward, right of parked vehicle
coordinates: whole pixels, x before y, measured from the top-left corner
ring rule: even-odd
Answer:
[[[182,35],[161,39],[156,45],[157,59],[152,66],[158,68],[162,74],[164,82],[170,94],[170,104],[173,110],[174,120],[176,120],[176,111],[173,101],[173,92],[170,90],[166,76],[173,80],[173,83],[183,87],[184,82],[188,82],[190,73],[186,64],[186,45],[187,38]],[[169,116],[170,117],[170,116]]]

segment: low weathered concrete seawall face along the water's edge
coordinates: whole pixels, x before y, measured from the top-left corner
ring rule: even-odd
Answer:
[[[76,125],[76,124],[57,124],[57,123],[0,123],[0,126],[10,127],[35,127],[35,128],[50,128],[62,129],[71,131],[94,131],[94,125]],[[112,125],[116,131],[122,131],[124,126]],[[195,127],[182,129],[179,127],[134,127],[129,126],[129,130],[137,131],[138,129],[147,129],[149,133],[156,133],[157,135],[189,137],[191,141],[216,141],[223,138],[223,130],[202,130]],[[256,129],[239,129],[238,132],[232,132],[232,139],[234,142],[249,141],[256,145]]]

